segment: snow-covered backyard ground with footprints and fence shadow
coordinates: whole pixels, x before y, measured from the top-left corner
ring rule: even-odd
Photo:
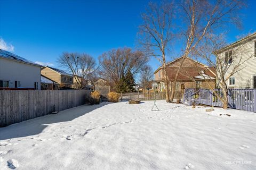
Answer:
[[[157,105],[79,106],[0,128],[0,169],[256,169],[255,113]]]

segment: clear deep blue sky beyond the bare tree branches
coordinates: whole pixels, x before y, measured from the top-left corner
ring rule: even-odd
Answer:
[[[13,53],[54,67],[59,67],[56,60],[62,52],[84,52],[97,59],[113,48],[135,47],[140,14],[148,2],[0,0],[0,37],[14,47]],[[231,28],[230,42],[256,30],[256,1],[248,3],[242,16],[244,28]],[[159,66],[156,60],[150,65]]]

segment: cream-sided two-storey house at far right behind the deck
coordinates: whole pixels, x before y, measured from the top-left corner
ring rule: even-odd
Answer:
[[[233,70],[233,66],[240,60],[240,63],[243,62],[239,67],[243,69],[228,79],[228,88],[256,88],[256,32],[218,50],[218,54],[220,57],[225,57],[226,64],[230,64],[226,78]],[[228,56],[231,56],[229,61],[226,60]]]

